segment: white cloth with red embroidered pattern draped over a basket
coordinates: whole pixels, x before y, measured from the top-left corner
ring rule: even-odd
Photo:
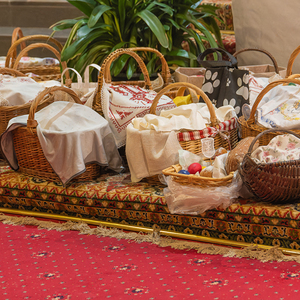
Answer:
[[[115,137],[117,147],[126,142],[126,127],[135,117],[143,117],[150,111],[156,92],[130,85],[103,84],[101,104],[105,119]],[[162,96],[157,112],[176,107],[172,99]]]

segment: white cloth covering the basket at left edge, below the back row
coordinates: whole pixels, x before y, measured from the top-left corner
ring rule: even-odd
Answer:
[[[22,105],[34,100],[43,86],[29,77],[0,74],[0,106]]]

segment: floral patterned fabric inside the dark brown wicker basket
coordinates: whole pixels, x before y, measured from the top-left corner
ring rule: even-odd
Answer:
[[[273,163],[300,158],[300,139],[292,134],[278,135],[267,146],[258,147],[251,157],[258,163]]]

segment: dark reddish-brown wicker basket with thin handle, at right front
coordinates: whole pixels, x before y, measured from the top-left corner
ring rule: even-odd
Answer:
[[[274,129],[266,130],[256,136],[239,170],[243,182],[256,197],[266,202],[287,203],[299,200],[300,160],[256,163],[250,157],[255,142],[263,135],[269,135],[271,132],[276,134],[290,133],[300,138],[300,135],[293,131],[275,131]]]

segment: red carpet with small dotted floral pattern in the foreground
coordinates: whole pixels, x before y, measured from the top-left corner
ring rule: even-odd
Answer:
[[[0,223],[0,299],[299,299],[300,264]]]

